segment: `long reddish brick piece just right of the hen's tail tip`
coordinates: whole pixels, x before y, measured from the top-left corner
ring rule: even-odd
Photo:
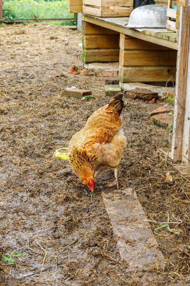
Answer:
[[[132,90],[124,90],[123,91],[125,97],[127,98],[138,98],[143,100],[152,100],[153,98],[157,99],[158,93],[152,92],[143,89],[132,89]]]

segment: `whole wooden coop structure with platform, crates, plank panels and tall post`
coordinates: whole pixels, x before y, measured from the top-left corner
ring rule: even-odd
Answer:
[[[167,28],[159,29],[126,27],[131,0],[94,3],[69,1],[70,12],[83,13],[83,62],[119,62],[121,88],[127,82],[176,78],[171,158],[190,163],[190,0],[157,1],[168,5]],[[178,9],[171,9],[175,5]]]

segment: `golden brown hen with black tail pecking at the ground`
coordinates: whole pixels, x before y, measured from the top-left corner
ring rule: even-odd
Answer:
[[[68,158],[75,174],[94,190],[96,175],[101,167],[119,166],[126,137],[121,129],[123,93],[117,93],[109,104],[96,110],[87,120],[85,127],[73,135],[69,143]],[[114,183],[115,183],[114,182]],[[110,185],[111,186],[111,185]]]

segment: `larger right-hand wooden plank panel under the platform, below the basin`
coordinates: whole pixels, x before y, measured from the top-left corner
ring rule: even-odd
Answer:
[[[175,81],[177,51],[120,34],[119,80]]]

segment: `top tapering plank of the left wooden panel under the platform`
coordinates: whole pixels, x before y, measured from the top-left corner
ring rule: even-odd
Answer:
[[[84,35],[119,35],[119,32],[82,21],[82,34]]]

